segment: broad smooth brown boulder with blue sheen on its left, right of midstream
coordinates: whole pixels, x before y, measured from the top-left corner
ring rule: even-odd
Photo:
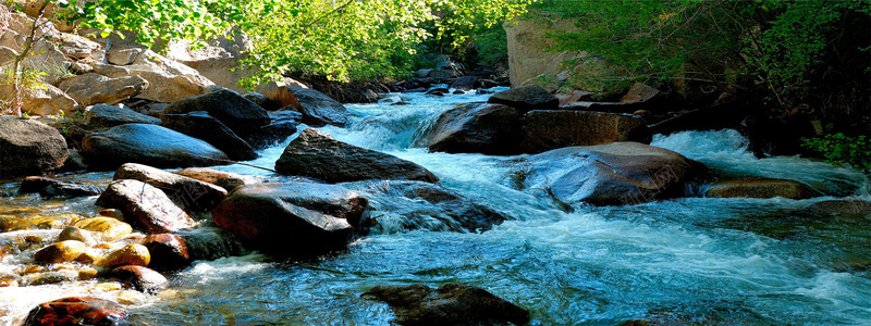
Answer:
[[[684,195],[704,165],[638,142],[567,147],[523,159],[520,188],[543,189],[559,202],[637,204]]]

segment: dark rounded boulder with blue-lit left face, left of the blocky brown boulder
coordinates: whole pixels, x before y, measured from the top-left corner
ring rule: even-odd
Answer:
[[[459,104],[439,116],[427,147],[447,153],[518,154],[522,118],[507,105]]]

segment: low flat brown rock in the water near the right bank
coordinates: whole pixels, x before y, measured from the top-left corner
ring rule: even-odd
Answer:
[[[774,198],[808,199],[820,192],[799,181],[785,179],[750,179],[720,181],[707,187],[704,197],[714,198]]]

